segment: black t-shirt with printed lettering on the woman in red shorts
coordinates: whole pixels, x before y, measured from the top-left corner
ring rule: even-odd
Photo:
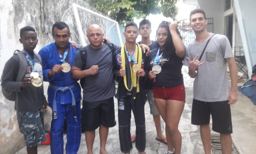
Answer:
[[[149,54],[149,60],[145,63],[146,69],[148,71],[152,70],[157,51],[158,48],[155,48]],[[159,52],[159,56],[161,54],[162,57],[160,58],[157,65],[160,65],[162,70],[159,74],[157,74],[156,83],[154,83],[154,86],[174,87],[183,84],[181,68],[184,57],[178,57],[175,52],[171,53],[170,56],[167,57],[164,50]]]

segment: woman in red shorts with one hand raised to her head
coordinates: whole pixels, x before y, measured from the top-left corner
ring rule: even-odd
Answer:
[[[163,21],[157,30],[158,48],[145,60],[148,77],[154,80],[153,94],[158,111],[165,122],[168,151],[181,153],[181,133],[178,125],[185,104],[185,88],[181,73],[185,47],[177,22]]]

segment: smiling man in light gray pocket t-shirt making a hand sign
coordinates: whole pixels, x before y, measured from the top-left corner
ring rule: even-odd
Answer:
[[[201,59],[199,56],[213,35],[206,30],[205,12],[195,9],[190,12],[190,26],[196,34],[196,39],[186,47],[185,66],[194,81],[194,99],[192,104],[191,123],[200,125],[200,134],[205,154],[211,153],[210,115],[212,129],[220,133],[223,154],[231,154],[232,122],[230,104],[237,101],[237,68],[230,43],[226,36],[214,35]],[[231,90],[227,91],[227,70],[229,66]],[[196,71],[197,70],[197,71]]]

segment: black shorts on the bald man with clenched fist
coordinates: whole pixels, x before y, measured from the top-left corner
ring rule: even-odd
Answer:
[[[97,102],[86,102],[83,100],[81,127],[82,130],[92,131],[103,125],[114,127],[116,123],[114,98]]]

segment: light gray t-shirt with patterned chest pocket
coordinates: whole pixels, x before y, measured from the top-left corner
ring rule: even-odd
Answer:
[[[207,41],[200,44],[194,40],[186,46],[186,57],[191,61],[197,54],[200,57]],[[230,57],[234,55],[227,37],[220,34],[213,36],[200,61],[205,63],[198,67],[193,87],[194,99],[205,102],[227,100],[226,58]],[[186,58],[183,65],[188,66]]]

